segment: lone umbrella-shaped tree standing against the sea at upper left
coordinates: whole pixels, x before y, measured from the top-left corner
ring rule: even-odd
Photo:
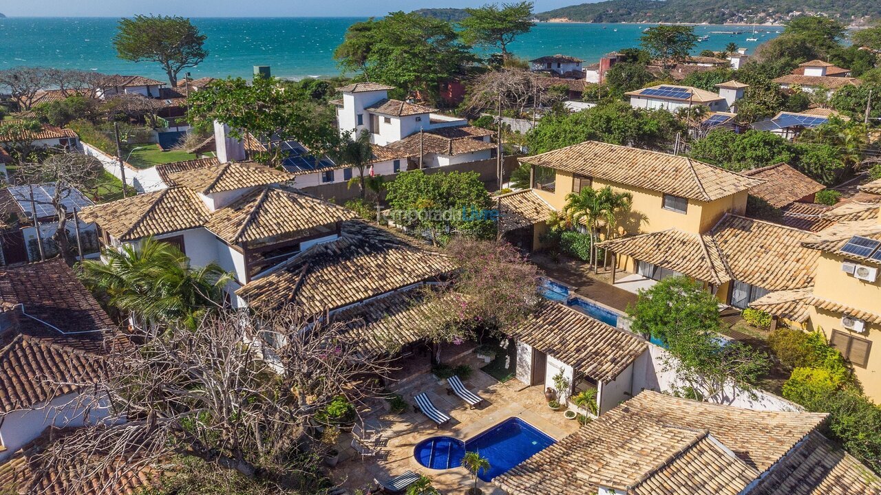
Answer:
[[[137,15],[119,21],[113,43],[122,60],[159,63],[174,87],[181,70],[208,56],[207,38],[189,18]]]

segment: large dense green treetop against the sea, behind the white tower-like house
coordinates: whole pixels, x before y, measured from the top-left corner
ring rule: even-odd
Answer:
[[[436,96],[441,82],[477,60],[452,24],[402,11],[350,26],[334,58],[344,70],[396,86],[401,97],[413,91]]]

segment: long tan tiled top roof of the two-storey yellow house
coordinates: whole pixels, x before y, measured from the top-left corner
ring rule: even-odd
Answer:
[[[713,201],[762,183],[687,157],[596,141],[520,161],[699,201]]]

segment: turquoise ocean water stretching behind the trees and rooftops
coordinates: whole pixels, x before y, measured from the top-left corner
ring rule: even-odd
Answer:
[[[0,18],[0,69],[19,65],[97,70],[106,74],[139,74],[165,78],[155,63],[131,63],[116,58],[112,40],[116,18]],[[333,50],[348,26],[362,18],[193,18],[208,35],[211,52],[204,63],[189,70],[203,76],[248,77],[254,65],[270,65],[282,78],[337,75]],[[510,50],[524,58],[565,54],[596,62],[619,48],[635,47],[648,25],[539,23]],[[777,27],[759,27],[753,37],[748,26],[696,26],[709,35],[696,51],[722,49],[729,42],[755,48],[776,35]],[[739,34],[713,31],[743,31]]]

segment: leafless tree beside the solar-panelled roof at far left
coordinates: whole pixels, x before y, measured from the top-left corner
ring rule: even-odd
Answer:
[[[67,216],[72,212],[67,210],[67,204],[64,200],[71,194],[75,194],[76,191],[93,188],[103,172],[104,167],[99,159],[72,152],[54,154],[43,160],[42,163],[26,162],[19,167],[19,176],[24,183],[52,182],[55,186],[55,192],[51,199],[43,203],[56,211],[58,225],[56,232],[52,234],[52,239],[55,240],[64,261],[70,265],[76,262],[76,258],[70,251],[67,235]],[[35,203],[41,202],[35,200]],[[33,218],[33,222],[34,226],[39,229],[38,219]]]

